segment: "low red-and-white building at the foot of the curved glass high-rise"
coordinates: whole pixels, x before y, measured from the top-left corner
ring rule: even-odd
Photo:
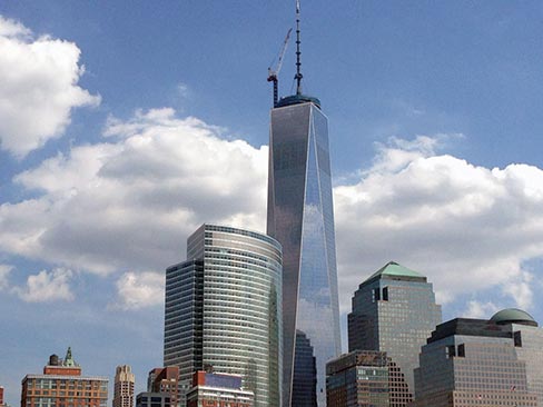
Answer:
[[[241,377],[196,371],[187,394],[187,407],[253,407],[255,395],[245,390]]]

